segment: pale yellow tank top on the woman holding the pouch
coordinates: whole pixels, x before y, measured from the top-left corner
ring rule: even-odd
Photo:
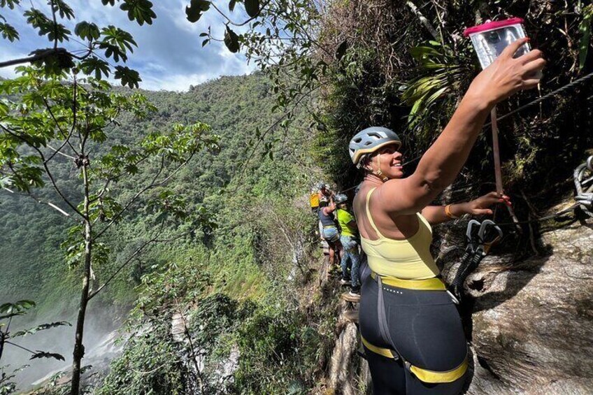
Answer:
[[[369,218],[371,227],[375,229],[379,238],[369,240],[360,237],[362,250],[369,259],[371,270],[381,275],[390,275],[404,280],[436,277],[439,271],[430,253],[432,228],[426,218],[417,213],[420,227],[410,238],[394,240],[383,236],[377,229],[369,210],[369,201],[375,189],[371,189],[366,194],[366,217]]]

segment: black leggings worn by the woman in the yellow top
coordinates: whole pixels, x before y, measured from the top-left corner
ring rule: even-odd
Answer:
[[[392,348],[378,326],[378,285],[371,276],[362,283],[359,325],[362,337],[376,347]],[[390,336],[406,361],[430,371],[451,371],[463,363],[467,345],[457,308],[444,291],[417,291],[383,285]],[[459,394],[466,374],[454,382],[418,380],[401,359],[383,357],[365,347],[373,394]]]

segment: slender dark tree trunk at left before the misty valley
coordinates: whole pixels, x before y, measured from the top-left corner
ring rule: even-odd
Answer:
[[[74,352],[72,361],[72,382],[70,387],[71,395],[78,395],[80,392],[80,364],[85,356],[83,345],[83,333],[85,329],[85,315],[89,301],[90,275],[91,275],[91,253],[92,253],[92,227],[89,217],[89,180],[87,165],[83,166],[83,182],[85,185],[85,271],[83,273],[83,289],[80,294],[80,306],[78,308],[78,319],[76,319],[76,334],[74,336]]]

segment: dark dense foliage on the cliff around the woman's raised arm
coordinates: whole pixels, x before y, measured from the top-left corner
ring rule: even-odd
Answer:
[[[548,65],[540,89],[500,103],[499,116],[592,70],[587,51],[591,8],[586,2],[336,3],[325,19],[322,44],[332,52],[344,41],[348,49],[328,73],[320,114],[323,133],[318,134],[317,157],[330,158],[322,162],[327,171],[352,182],[354,173],[345,166],[348,157],[339,147],[371,125],[398,131],[405,159],[416,159],[443,129],[478,71],[471,42],[462,31],[510,16],[524,18],[532,46],[544,52]],[[586,132],[592,110],[586,98],[591,93],[591,84],[585,83],[500,122],[503,178],[507,192],[517,196],[515,201],[522,199],[523,191],[545,207],[548,202],[538,201],[538,196],[555,191],[542,193],[542,185],[557,185],[571,176],[552,161],[569,168],[583,161],[592,143]],[[489,187],[488,182],[473,180],[492,180],[491,147],[487,128],[457,187],[469,187],[466,192],[473,195]]]

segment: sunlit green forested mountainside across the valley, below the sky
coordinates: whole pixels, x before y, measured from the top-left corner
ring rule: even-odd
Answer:
[[[144,309],[145,304],[171,298],[166,294],[169,286],[164,287],[159,282],[157,288],[152,289],[147,283],[182,281],[183,284],[176,283],[178,288],[175,290],[179,304],[158,314],[156,322],[164,329],[171,325],[173,313],[178,313],[178,310],[185,312],[192,306],[184,303],[200,306],[199,300],[210,294],[214,296],[210,301],[206,299],[208,308],[224,308],[233,317],[243,314],[242,319],[255,315],[252,318],[256,319],[254,325],[276,325],[273,317],[280,320],[277,323],[280,331],[288,330],[284,325],[296,324],[295,317],[282,313],[285,311],[283,300],[287,295],[282,283],[287,278],[308,273],[306,266],[315,258],[303,257],[303,254],[315,251],[316,245],[310,240],[315,220],[310,216],[308,202],[304,197],[298,199],[299,203],[292,202],[306,195],[315,174],[320,171],[313,168],[308,159],[312,136],[307,127],[303,127],[308,125],[306,114],[299,115],[296,127],[287,130],[274,127],[278,122],[277,115],[271,111],[274,101],[269,92],[270,86],[269,78],[254,73],[251,76],[222,77],[192,87],[187,93],[143,92],[156,106],[156,112],[141,121],[124,118],[120,125],[109,131],[126,143],[152,129],[169,128],[174,122],[199,120],[210,125],[212,133],[220,136],[220,150],[204,152],[196,157],[170,183],[174,190],[183,191],[189,198],[190,210],[208,213],[213,227],[205,228],[190,238],[152,247],[126,266],[100,299],[93,301],[93,311],[101,315],[101,310],[108,309],[106,311],[110,314],[117,315],[117,310],[129,309],[139,295],[143,299],[139,299],[136,306]],[[271,150],[264,150],[257,147],[255,134],[268,129],[269,138],[275,139],[276,144]],[[71,172],[71,162],[61,161],[59,166],[62,166],[58,168],[61,177],[76,178]],[[141,176],[149,177],[150,174]],[[122,196],[126,194],[126,185],[116,187]],[[76,194],[76,190],[72,192]],[[48,189],[41,194],[52,196]],[[1,300],[36,301],[37,317],[29,315],[27,319],[72,319],[76,309],[77,283],[73,280],[76,268],[69,269],[64,251],[59,248],[66,220],[55,210],[24,196],[6,192],[1,199]],[[129,245],[127,240],[131,236],[142,239],[145,226],[140,215],[127,218],[124,226],[109,232],[109,242],[116,247],[108,264],[97,269],[97,282],[101,281],[102,273],[112,273],[136,247]],[[294,250],[298,250],[298,257],[293,256]],[[156,277],[153,278],[151,273]],[[144,295],[143,289],[148,289],[147,295]],[[165,294],[155,295],[152,292]],[[265,310],[260,312],[254,303],[262,300],[266,300],[262,305]],[[248,304],[243,306],[245,303],[239,301]],[[222,305],[219,306],[219,303]],[[113,306],[120,307],[114,310]],[[238,313],[234,313],[235,310]],[[138,322],[143,322],[143,319],[140,317]],[[223,322],[213,322],[219,328],[216,331],[236,331],[231,326],[225,328]],[[230,321],[228,324],[234,325]],[[192,325],[203,323],[192,320]],[[217,337],[216,331],[204,331],[203,336]],[[64,329],[62,334],[70,338],[67,332]],[[259,330],[245,333],[256,336],[257,332]],[[155,333],[167,336],[167,331]],[[290,332],[281,335],[272,333],[271,336],[290,336]],[[40,341],[41,344],[46,343]],[[87,347],[92,347],[92,344]],[[67,347],[60,351],[68,354]],[[155,361],[138,359],[136,362],[152,364]],[[177,366],[171,361],[173,365]],[[178,367],[167,374],[180,374],[176,372]]]

